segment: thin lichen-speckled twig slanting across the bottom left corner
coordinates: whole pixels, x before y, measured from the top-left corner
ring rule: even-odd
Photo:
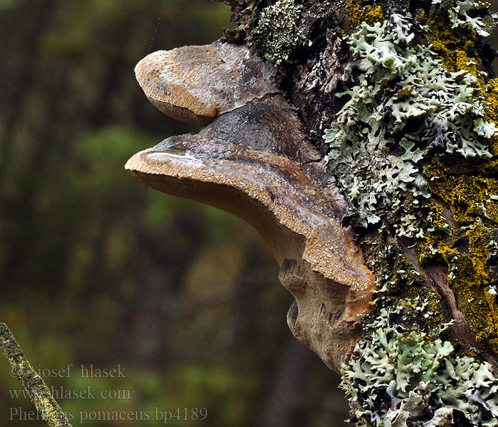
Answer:
[[[33,371],[28,360],[17,344],[14,335],[5,323],[0,323],[0,350],[9,360],[12,371],[17,379],[23,383],[31,401],[50,427],[71,427],[68,418],[43,382],[41,376]]]

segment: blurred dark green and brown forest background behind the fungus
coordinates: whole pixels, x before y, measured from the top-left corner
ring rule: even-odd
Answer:
[[[0,321],[56,397],[73,393],[58,399],[73,426],[157,426],[176,408],[169,426],[345,424],[337,375],[288,330],[292,297],[258,234],[124,171],[196,131],[149,104],[134,65],[211,43],[228,13],[209,0],[0,0]],[[117,367],[124,377],[95,376]],[[45,426],[25,421],[18,389],[0,357],[0,427]],[[98,420],[125,411],[150,419]]]

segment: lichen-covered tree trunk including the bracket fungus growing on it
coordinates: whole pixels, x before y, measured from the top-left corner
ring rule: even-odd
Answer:
[[[498,426],[489,4],[226,3],[223,40],[136,68],[161,111],[207,126],[127,169],[262,233],[357,426]]]

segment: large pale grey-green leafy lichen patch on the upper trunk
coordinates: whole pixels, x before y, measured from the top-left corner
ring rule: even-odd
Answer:
[[[420,161],[431,147],[464,157],[489,158],[486,139],[498,135],[484,120],[476,78],[448,73],[410,17],[361,23],[347,38],[358,82],[324,135],[329,167],[339,177],[351,211],[364,226],[396,208],[401,193],[428,197]],[[402,235],[417,236],[415,218],[400,212]]]

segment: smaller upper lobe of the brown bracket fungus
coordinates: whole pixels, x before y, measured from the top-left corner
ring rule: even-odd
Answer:
[[[151,53],[137,64],[135,75],[161,112],[197,125],[280,92],[270,64],[220,41]]]

